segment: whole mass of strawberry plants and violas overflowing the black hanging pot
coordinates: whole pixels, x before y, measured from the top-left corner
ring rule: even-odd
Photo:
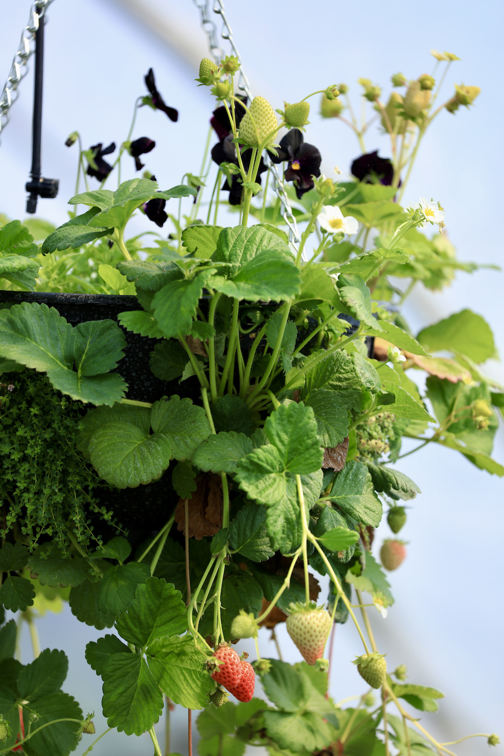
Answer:
[[[434,57],[447,67],[456,60]],[[64,653],[38,647],[36,612],[62,598],[79,621],[113,628],[85,649],[103,679],[104,716],[127,735],[148,731],[157,756],[154,726],[172,702],[189,716],[203,710],[199,752],[208,756],[243,754],[247,743],[286,756],[453,754],[419,720],[443,694],[425,680],[405,683],[404,665],[387,672],[366,606],[385,615],[394,601],[372,553],[383,506],[397,534],[404,502],[419,493],[394,465],[405,456],[402,438],[419,442],[413,451],[440,444],[504,474],[490,457],[504,393],[478,367],[495,356],[490,328],[465,309],[415,337],[400,314],[416,283],[441,289],[456,269],[477,267],[457,262],[439,233],[439,203],[403,208],[400,197],[432,119],[469,106],[479,90],[459,85],[435,110],[434,76],[393,76],[405,91],[394,89],[386,105],[379,87],[361,79],[364,102],[390,135],[391,159],[366,153],[367,125],[340,100],[345,85],[314,93],[325,117],[343,120],[348,107],[363,150],[352,165],[358,180],[336,183],[320,175],[320,153],[304,141],[308,98],[286,103],[279,122],[264,98],[233,95],[237,71],[233,57],[202,61],[198,81],[218,99],[219,141],[211,156],[207,141],[199,177],[187,174],[168,191],[152,175],[121,183],[122,153],[140,170],[140,155],[154,146],[147,137],[131,141],[135,119],[113,166],[104,155],[115,144],[82,150],[75,132],[67,144],[79,141],[77,191],[81,174],[100,188],[86,184],[60,228],[7,220],[0,228],[4,289],[136,294],[141,305],[119,315],[121,328],[111,320],[73,327],[36,302],[2,304],[0,600],[28,622],[36,658],[16,660],[16,621],[2,609],[0,754],[65,756],[94,733],[93,715],[83,717],[60,689]],[[146,83],[150,95],[138,98],[135,114],[147,104],[176,120],[152,70]],[[253,201],[266,152],[292,182],[305,224],[297,246],[267,178]],[[212,161],[218,170],[202,220]],[[111,191],[104,183],[116,166]],[[174,199],[178,213],[169,214]],[[238,225],[218,225],[224,205],[240,212]],[[168,237],[154,235],[156,246],[143,235],[125,240],[139,210],[159,228],[172,222]],[[156,339],[150,366],[166,395],[153,404],[128,399],[116,371],[128,331]],[[428,374],[425,394],[410,370]],[[137,488],[141,510],[143,487],[159,479],[165,525],[136,544],[120,529],[120,507],[100,501]],[[116,528],[113,538],[100,525]],[[385,541],[382,565],[397,569],[405,555],[403,541]],[[318,605],[314,573],[329,576]],[[334,623],[348,620],[362,641],[356,673],[370,689],[343,706],[328,694],[330,652],[323,657]],[[281,621],[304,662],[261,658],[261,628],[274,636]],[[252,663],[240,656],[242,638],[255,639]],[[264,698],[252,699],[256,675]]]

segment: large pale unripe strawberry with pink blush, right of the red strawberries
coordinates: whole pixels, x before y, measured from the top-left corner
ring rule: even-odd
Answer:
[[[326,609],[311,601],[305,604],[291,604],[287,617],[287,632],[298,646],[302,657],[309,665],[322,658],[323,649],[331,629],[331,615]]]

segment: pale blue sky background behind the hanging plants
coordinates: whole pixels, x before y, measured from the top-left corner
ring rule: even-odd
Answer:
[[[144,19],[152,19],[170,44],[131,14],[131,8],[138,6]],[[341,81],[351,85],[351,95],[357,99],[359,76],[379,82],[388,91],[391,73],[400,70],[411,78],[430,73],[434,62],[431,48],[447,49],[461,57],[450,70],[447,96],[454,82],[480,86],[481,96],[471,110],[461,108],[455,116],[441,113],[425,138],[405,201],[415,203],[420,196],[440,200],[447,213],[447,233],[460,259],[497,265],[502,265],[499,221],[504,166],[499,138],[504,100],[502,68],[497,60],[503,9],[502,3],[485,2],[476,8],[473,3],[453,0],[422,4],[393,0],[226,2],[252,91],[264,95],[274,107]],[[2,82],[28,11],[25,0],[2,8]],[[60,178],[61,183],[57,200],[39,203],[41,217],[57,223],[66,219],[66,200],[73,194],[76,168],[76,148],[64,146],[67,135],[79,129],[85,146],[125,139],[133,103],[144,94],[143,76],[151,66],[165,100],[178,107],[180,118],[172,124],[162,113],[141,110],[134,136],[148,135],[157,143],[156,150],[146,156],[146,166],[156,173],[162,188],[177,184],[186,171],[199,171],[214,105],[206,88],[197,88],[193,82],[197,60],[208,52],[190,0],[87,0],[84,4],[54,0],[46,45],[42,166],[46,176]],[[30,163],[31,104],[29,73],[13,107],[11,123],[0,137],[0,212],[12,218],[25,217],[23,186]],[[306,139],[319,147],[326,175],[332,175],[335,165],[348,171],[351,160],[360,153],[344,125],[320,119],[315,102]],[[366,147],[388,154],[378,132],[373,132]],[[131,160],[124,177],[132,175]],[[138,228],[145,224],[141,218]],[[472,308],[487,318],[494,331],[500,331],[497,341],[502,355],[502,283],[499,271],[479,271],[471,276],[461,273],[443,294],[420,289],[414,293],[407,317],[413,329],[419,330],[447,314]],[[504,382],[499,363],[493,361],[485,369]],[[502,463],[502,432],[495,456]],[[404,538],[410,541],[407,561],[391,575],[396,606],[385,621],[379,615],[373,618],[379,645],[388,652],[392,668],[405,662],[412,682],[438,687],[447,694],[440,714],[425,717],[434,733],[450,740],[472,731],[498,731],[502,721],[499,681],[504,674],[499,650],[504,619],[499,527],[502,482],[453,452],[434,446],[407,457],[400,469],[419,484],[422,494],[413,502],[404,530]],[[388,534],[387,526],[382,525],[378,541]],[[59,646],[70,654],[68,690],[76,694],[80,688],[83,708],[100,711],[98,679],[89,668],[79,668],[83,644],[98,634],[79,626],[70,612],[64,616],[65,639]],[[54,645],[57,627],[54,618],[40,623],[42,647]],[[281,635],[287,658],[297,660],[289,638],[283,631]],[[270,646],[265,640],[264,653],[274,655]],[[336,699],[362,690],[349,664],[358,650],[353,629],[338,628],[332,671]],[[27,646],[23,652],[28,659]],[[99,722],[97,717],[97,731]],[[109,754],[113,743],[124,756],[141,750],[133,738],[111,733],[107,739],[94,749],[96,756]],[[148,742],[142,746],[147,750]],[[184,752],[182,742],[174,743],[173,748]],[[456,752],[479,756],[487,753],[487,745],[471,742],[456,746]],[[501,747],[494,752],[504,751]]]

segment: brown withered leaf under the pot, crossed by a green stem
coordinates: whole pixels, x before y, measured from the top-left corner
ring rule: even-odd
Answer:
[[[215,535],[222,527],[222,481],[212,472],[200,472],[196,476],[196,491],[188,500],[189,538],[201,541],[204,535]],[[178,500],[175,508],[177,529],[185,535],[185,499]]]

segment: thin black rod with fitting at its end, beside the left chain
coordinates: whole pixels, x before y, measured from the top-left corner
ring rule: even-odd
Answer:
[[[37,6],[40,14],[42,8]],[[45,15],[39,15],[39,28],[35,33],[35,88],[33,95],[33,129],[32,129],[32,169],[31,181],[25,189],[29,192],[26,200],[26,212],[34,213],[39,197],[54,199],[60,182],[57,178],[43,178],[41,169],[42,154],[42,87],[44,83],[44,26]]]

